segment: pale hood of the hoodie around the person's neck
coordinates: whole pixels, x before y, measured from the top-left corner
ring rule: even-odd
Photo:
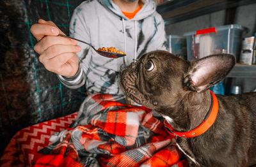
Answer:
[[[118,15],[121,18],[124,18],[124,20],[129,20],[129,18],[125,17],[125,15],[122,13],[120,8],[113,3],[112,0],[98,0],[100,4],[102,4],[105,8],[108,8],[108,10],[115,13],[115,15]],[[143,6],[138,13],[136,13],[135,17],[131,20],[142,20],[143,18],[147,18],[148,16],[152,15],[156,11],[156,3],[152,0],[142,0]]]

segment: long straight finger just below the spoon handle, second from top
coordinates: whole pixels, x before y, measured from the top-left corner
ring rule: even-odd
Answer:
[[[47,48],[53,45],[76,45],[77,41],[62,36],[45,36],[36,43],[34,49],[38,54],[42,54]]]

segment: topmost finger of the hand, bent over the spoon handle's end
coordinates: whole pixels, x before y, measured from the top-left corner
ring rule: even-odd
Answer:
[[[33,24],[30,27],[30,31],[37,41],[42,40],[44,36],[58,36],[60,34],[58,27],[49,24]]]

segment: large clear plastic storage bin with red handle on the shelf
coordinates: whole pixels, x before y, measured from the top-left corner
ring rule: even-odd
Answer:
[[[232,24],[185,33],[188,60],[221,53],[233,54],[238,60],[245,29],[242,25]]]

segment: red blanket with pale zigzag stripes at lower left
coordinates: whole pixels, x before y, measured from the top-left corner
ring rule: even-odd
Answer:
[[[20,129],[4,149],[3,156],[0,158],[0,166],[32,166],[38,150],[49,145],[49,138],[52,134],[67,129],[76,119],[77,113]]]

